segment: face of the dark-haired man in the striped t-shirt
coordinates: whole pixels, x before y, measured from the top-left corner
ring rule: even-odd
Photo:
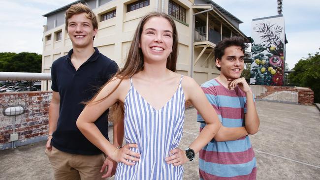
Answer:
[[[244,68],[244,54],[240,46],[229,46],[224,49],[221,60],[216,60],[221,68],[221,75],[227,79],[238,79]]]

